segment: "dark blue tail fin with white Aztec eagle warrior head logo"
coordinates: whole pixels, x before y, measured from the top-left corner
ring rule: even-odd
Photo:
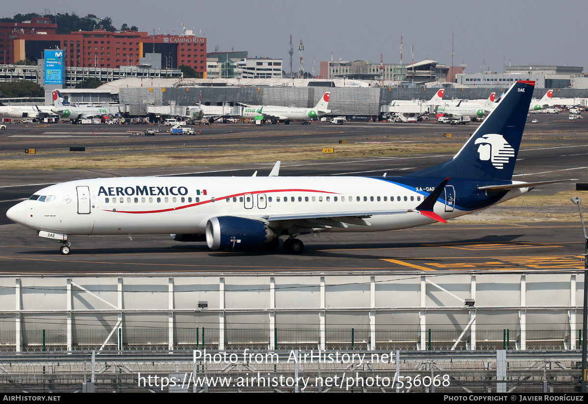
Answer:
[[[534,86],[516,82],[453,159],[408,175],[510,181]]]

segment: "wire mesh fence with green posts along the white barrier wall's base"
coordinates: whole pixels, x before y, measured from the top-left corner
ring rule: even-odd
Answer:
[[[366,351],[372,334],[368,328],[169,328],[118,327],[114,329],[75,329],[71,332],[74,351],[122,350],[157,351],[173,349],[317,349],[321,336],[325,348]],[[0,352],[13,352],[21,338],[21,351],[66,351],[68,332],[65,329],[39,329],[23,332],[0,331]],[[494,351],[571,350],[581,348],[581,331],[574,335],[566,330],[530,330],[521,334],[516,329],[461,331],[446,329],[376,329],[375,349],[402,351]],[[171,341],[173,341],[171,343]]]

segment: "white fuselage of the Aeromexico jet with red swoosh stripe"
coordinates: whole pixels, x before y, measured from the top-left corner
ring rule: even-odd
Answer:
[[[7,216],[35,230],[62,234],[203,234],[209,218],[272,220],[287,230],[288,216],[366,214],[367,224],[322,231],[382,231],[433,223],[408,210],[432,188],[364,177],[121,177],[71,181],[44,188]],[[434,188],[434,186],[433,186]],[[520,194],[507,194],[503,200]],[[442,193],[435,213],[448,219],[471,211],[447,207]],[[453,195],[455,200],[455,194]],[[391,214],[386,214],[390,212]],[[373,214],[369,217],[368,215]],[[359,220],[359,219],[358,219]],[[311,226],[312,227],[312,226]],[[316,227],[320,228],[319,225]]]

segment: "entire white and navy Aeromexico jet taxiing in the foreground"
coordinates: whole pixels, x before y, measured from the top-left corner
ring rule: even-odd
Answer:
[[[212,250],[299,254],[302,234],[399,230],[476,213],[540,184],[513,181],[534,82],[516,82],[446,163],[398,177],[118,177],[43,188],[6,216],[58,240],[172,234]]]

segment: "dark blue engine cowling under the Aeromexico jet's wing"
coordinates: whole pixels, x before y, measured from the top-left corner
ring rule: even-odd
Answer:
[[[220,216],[206,223],[206,244],[212,250],[262,248],[274,237],[268,224],[259,220]]]

